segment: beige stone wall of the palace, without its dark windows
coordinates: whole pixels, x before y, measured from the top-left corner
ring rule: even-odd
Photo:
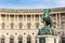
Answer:
[[[36,10],[38,12],[34,12],[34,11],[29,11],[29,12],[20,12],[20,13],[15,13],[15,12],[1,12],[0,11],[0,38],[2,35],[5,37],[5,43],[9,43],[9,39],[10,35],[14,35],[14,43],[17,43],[17,38],[18,35],[23,35],[23,42],[26,43],[26,38],[27,35],[31,37],[31,42],[35,43],[36,41],[36,37],[38,33],[38,30],[41,29],[41,27],[43,26],[43,24],[41,23],[41,18],[42,18],[42,10]],[[40,12],[41,11],[41,12]],[[52,24],[53,24],[53,29],[55,29],[58,33],[58,35],[61,37],[64,32],[64,26],[65,26],[65,12],[52,12]],[[5,17],[2,17],[1,15],[4,15]],[[14,17],[10,17],[11,15],[13,15]],[[20,20],[20,15],[22,15]],[[30,19],[28,19],[28,15],[30,15]],[[9,17],[8,17],[9,16]],[[16,16],[16,17],[15,17]],[[38,16],[38,17],[36,17]],[[12,20],[12,19],[13,20]],[[38,20],[37,20],[38,19]],[[64,23],[63,23],[64,22]],[[2,23],[4,23],[4,29],[2,29]],[[14,24],[14,29],[11,28],[11,23]],[[23,24],[23,28],[20,29],[20,23]],[[27,28],[27,24],[30,23],[30,29]],[[36,28],[36,23],[39,24],[39,27]]]

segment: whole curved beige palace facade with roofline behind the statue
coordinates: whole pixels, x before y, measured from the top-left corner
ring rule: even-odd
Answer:
[[[53,29],[65,42],[65,8],[52,10]],[[43,9],[0,9],[0,43],[37,43]]]

